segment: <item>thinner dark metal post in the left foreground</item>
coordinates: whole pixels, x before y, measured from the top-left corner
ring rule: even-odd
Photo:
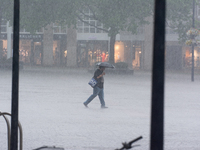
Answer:
[[[11,150],[18,149],[18,91],[19,91],[19,0],[14,0]]]

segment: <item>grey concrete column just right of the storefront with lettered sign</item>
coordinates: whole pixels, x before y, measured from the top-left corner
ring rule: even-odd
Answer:
[[[53,24],[47,25],[43,36],[43,65],[53,65]]]

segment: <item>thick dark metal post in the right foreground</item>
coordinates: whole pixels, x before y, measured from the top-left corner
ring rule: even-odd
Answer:
[[[164,145],[165,0],[155,0],[151,104],[151,150]]]

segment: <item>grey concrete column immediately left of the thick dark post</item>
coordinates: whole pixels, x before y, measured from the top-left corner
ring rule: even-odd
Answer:
[[[148,17],[147,20],[150,24],[145,25],[145,37],[144,37],[144,70],[152,69],[152,54],[153,54],[153,17]]]

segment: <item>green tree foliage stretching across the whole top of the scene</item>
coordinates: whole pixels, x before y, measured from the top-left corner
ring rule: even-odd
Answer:
[[[179,34],[180,41],[187,39],[186,32],[192,26],[192,2],[167,0],[166,22]],[[11,25],[13,4],[13,0],[0,0],[0,17],[10,20]],[[70,26],[89,17],[103,23],[104,28],[94,27],[110,36],[123,30],[135,34],[139,26],[148,23],[145,19],[152,15],[153,4],[153,0],[20,0],[20,26],[33,33],[52,22]],[[91,16],[84,12],[88,9]],[[199,25],[196,20],[195,26]]]

